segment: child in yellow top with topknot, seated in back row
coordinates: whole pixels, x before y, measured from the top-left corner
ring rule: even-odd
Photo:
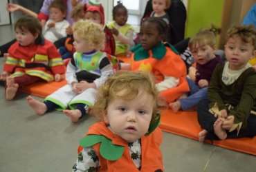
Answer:
[[[127,8],[122,3],[118,2],[112,13],[113,21],[107,26],[116,41],[116,56],[124,56],[126,51],[135,45],[133,40],[136,39],[136,32],[133,26],[126,23],[128,19]]]

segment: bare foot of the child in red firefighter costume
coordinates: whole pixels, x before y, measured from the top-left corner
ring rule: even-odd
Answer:
[[[7,77],[6,78],[6,100],[12,100],[15,98],[19,85],[15,83],[14,78]]]

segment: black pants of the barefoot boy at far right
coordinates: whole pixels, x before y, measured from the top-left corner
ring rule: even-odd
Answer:
[[[214,122],[217,120],[217,118],[209,112],[209,103],[210,101],[207,99],[199,101],[197,105],[197,118],[201,127],[208,131],[206,138],[210,140],[219,140],[219,138],[214,134],[213,128]],[[247,120],[247,126],[244,129],[241,129],[238,135],[237,130],[232,132],[227,131],[227,134],[227,138],[245,138],[256,136],[256,116],[250,114]]]

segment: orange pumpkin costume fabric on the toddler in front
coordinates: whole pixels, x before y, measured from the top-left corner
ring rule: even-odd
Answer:
[[[125,151],[122,157],[116,161],[110,161],[102,158],[100,155],[100,143],[95,144],[93,148],[98,153],[98,158],[100,160],[101,168],[98,171],[139,171],[134,162],[131,160],[129,154],[128,144],[125,140],[122,140],[119,136],[112,133],[105,125],[104,122],[98,122],[89,127],[89,134],[103,135],[111,139],[113,144],[122,145],[125,147]],[[156,171],[161,169],[163,171],[163,158],[160,150],[160,145],[162,143],[162,131],[158,127],[149,136],[143,136],[141,138],[141,169],[140,171]],[[78,151],[82,151],[79,147]]]

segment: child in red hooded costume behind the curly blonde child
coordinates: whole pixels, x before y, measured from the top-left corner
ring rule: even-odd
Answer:
[[[87,6],[87,4],[84,4],[84,19],[91,20],[104,26],[106,42],[105,48],[102,51],[114,56],[116,51],[115,39],[113,38],[111,30],[109,30],[107,25],[104,25],[104,8],[102,5],[100,4],[99,6]]]

